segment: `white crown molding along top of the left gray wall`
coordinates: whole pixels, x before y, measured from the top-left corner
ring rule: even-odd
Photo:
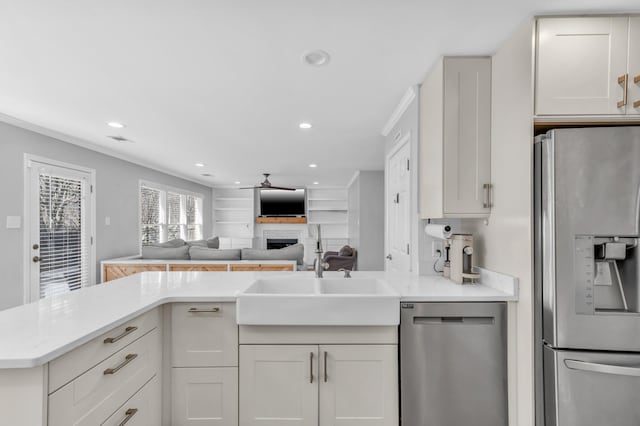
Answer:
[[[126,161],[128,163],[137,164],[138,166],[145,167],[147,169],[155,170],[160,173],[164,173],[170,176],[174,176],[180,179],[187,180],[189,182],[197,183],[199,185],[206,186],[208,188],[212,188],[213,184],[211,182],[206,182],[204,180],[199,180],[192,176],[187,176],[181,174],[179,172],[168,170],[156,164],[153,164],[148,161],[140,160],[135,157],[130,157],[120,152],[117,152],[113,149],[105,148],[103,146],[97,145],[95,143],[89,142],[85,139],[80,139],[75,136],[68,135],[66,133],[58,132],[57,130],[48,129],[46,127],[39,126],[34,123],[30,123],[28,121],[21,120],[16,117],[12,117],[7,114],[0,113],[0,122],[10,124],[15,127],[19,127],[21,129],[29,130],[40,135],[48,136],[50,138],[57,139],[62,142],[70,143],[72,145],[80,146],[82,148],[88,149],[90,151],[99,152],[100,154],[108,155],[109,157],[117,158],[122,161]]]

